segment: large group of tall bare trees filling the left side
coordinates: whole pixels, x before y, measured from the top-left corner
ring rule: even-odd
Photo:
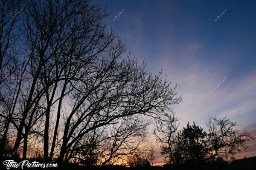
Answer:
[[[90,0],[0,1],[1,157],[154,159],[147,126],[181,97],[162,72],[124,56],[108,14]]]

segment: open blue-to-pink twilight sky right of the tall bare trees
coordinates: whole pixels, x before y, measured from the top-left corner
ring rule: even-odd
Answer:
[[[180,126],[228,116],[256,136],[255,0],[94,0],[131,57],[162,70],[183,102],[174,106]],[[116,18],[115,18],[116,16]],[[218,17],[219,16],[219,17]],[[250,142],[242,157],[256,156]],[[156,162],[163,162],[157,147]]]

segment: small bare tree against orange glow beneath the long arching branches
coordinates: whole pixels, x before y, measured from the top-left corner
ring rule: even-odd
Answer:
[[[109,134],[102,141],[102,165],[125,160],[128,155],[143,155],[149,121],[139,116],[128,116],[117,120],[108,128]]]

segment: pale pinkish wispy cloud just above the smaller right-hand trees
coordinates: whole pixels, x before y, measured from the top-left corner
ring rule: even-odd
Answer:
[[[187,48],[189,46],[191,48]],[[171,51],[163,50],[163,60],[159,61],[160,67],[172,82],[177,82],[178,92],[183,96],[183,102],[175,105],[175,111],[182,119],[183,125],[188,120],[204,125],[205,119],[213,114],[228,115],[234,121],[239,120],[239,116],[249,119],[251,112],[256,111],[256,94],[252,93],[256,91],[256,72],[244,74],[239,77],[239,81],[231,74],[221,88],[215,91],[218,79],[223,74],[230,73],[233,68],[219,70],[218,65],[205,66],[193,59],[202,45],[187,47],[185,45],[186,50],[178,57]],[[185,62],[180,64],[179,60]],[[173,66],[174,64],[179,64],[179,67]]]

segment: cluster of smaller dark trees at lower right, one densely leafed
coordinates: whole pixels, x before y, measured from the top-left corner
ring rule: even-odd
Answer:
[[[195,122],[193,125],[188,122],[186,127],[178,130],[178,121],[175,113],[172,113],[154,129],[166,163],[174,166],[235,159],[237,153],[248,148],[246,142],[255,139],[245,130],[237,130],[237,124],[227,116],[209,117],[206,122],[207,132]]]

